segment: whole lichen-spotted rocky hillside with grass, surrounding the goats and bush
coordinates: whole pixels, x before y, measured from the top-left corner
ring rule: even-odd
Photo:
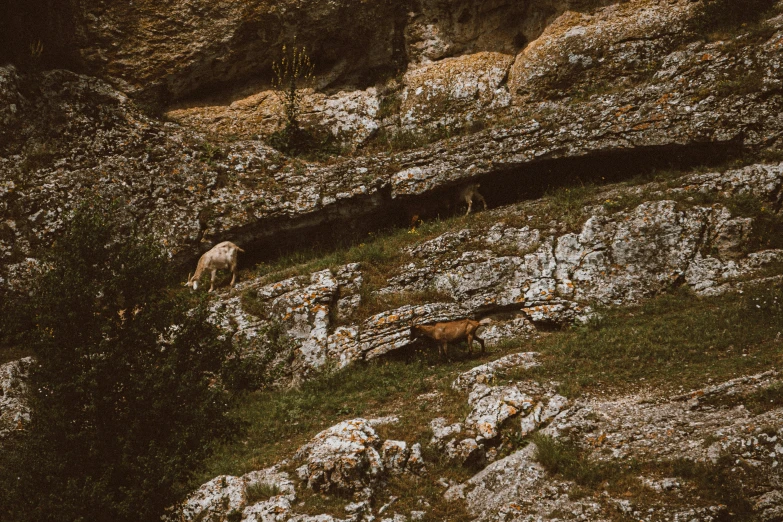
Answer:
[[[172,520],[783,520],[783,3],[300,4],[0,24],[74,28],[0,64],[3,291],[96,193],[183,279],[245,250],[211,306],[247,436]],[[411,335],[465,317],[486,352]]]

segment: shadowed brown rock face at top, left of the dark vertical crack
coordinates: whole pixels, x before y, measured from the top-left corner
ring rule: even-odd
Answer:
[[[271,75],[283,44],[304,46],[326,77],[344,81],[393,67],[402,48],[404,10],[363,4],[254,0],[82,6],[83,59],[124,90],[154,101],[204,87]],[[166,16],[161,17],[160,10]],[[166,35],[162,37],[161,35]],[[107,45],[112,42],[113,45]],[[154,60],[146,59],[153,55]]]

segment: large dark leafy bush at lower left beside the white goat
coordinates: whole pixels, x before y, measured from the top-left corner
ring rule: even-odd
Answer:
[[[228,341],[205,301],[170,294],[164,252],[121,211],[77,211],[17,303],[36,362],[30,423],[0,452],[3,521],[158,520],[235,433],[214,384]]]

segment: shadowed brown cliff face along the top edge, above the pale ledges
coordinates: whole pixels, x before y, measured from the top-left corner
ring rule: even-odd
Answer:
[[[169,103],[191,93],[230,92],[229,83],[268,78],[281,46],[291,45],[294,36],[318,65],[324,83],[371,85],[409,61],[480,51],[515,54],[564,10],[606,3],[89,1],[62,13],[74,34],[50,46],[67,46],[86,70],[125,92]]]

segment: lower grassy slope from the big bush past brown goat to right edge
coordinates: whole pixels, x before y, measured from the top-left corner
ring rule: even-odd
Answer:
[[[248,395],[235,412],[248,422],[244,439],[218,448],[195,483],[271,465],[290,457],[318,431],[357,416],[398,415],[400,423],[380,428],[381,437],[425,443],[431,419],[444,416],[457,422],[468,413],[465,394],[452,391],[451,381],[504,353],[541,352],[542,366],[506,378],[559,381],[560,391],[570,397],[619,394],[640,387],[677,393],[781,365],[781,332],[783,287],[779,285],[710,299],[680,290],[639,307],[607,311],[603,319],[587,326],[507,343],[484,356],[471,358],[463,350],[454,360],[444,361],[435,350],[410,351],[394,360],[323,376],[297,389]],[[430,392],[440,392],[439,404],[417,399]],[[775,395],[772,400],[783,399]],[[513,434],[508,441],[506,451],[526,443]],[[435,481],[440,477],[464,480],[475,470],[450,467],[432,453],[426,456],[435,462],[431,473],[420,479],[394,479],[389,494],[400,496],[399,507],[408,509],[416,509],[416,498],[423,495],[433,505],[430,516],[460,520],[464,513],[459,506],[442,502],[442,489]],[[591,469],[583,473],[603,476]],[[618,475],[618,480],[623,477]],[[591,478],[586,485],[595,485],[596,480]],[[344,503],[338,500],[306,497],[314,513],[336,509]]]

